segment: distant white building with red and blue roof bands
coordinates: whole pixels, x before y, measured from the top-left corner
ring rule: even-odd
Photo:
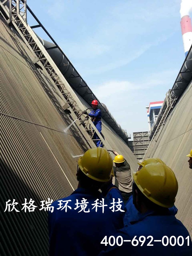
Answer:
[[[148,116],[148,127],[149,132],[151,131],[153,124],[155,123],[155,120],[159,114],[159,111],[161,109],[161,106],[163,105],[164,101],[154,101],[150,102],[149,106],[147,106],[147,116]]]

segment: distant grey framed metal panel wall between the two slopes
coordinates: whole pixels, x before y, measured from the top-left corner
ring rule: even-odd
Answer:
[[[129,140],[129,148],[139,162],[142,161],[149,143],[148,132],[133,132],[133,140]]]

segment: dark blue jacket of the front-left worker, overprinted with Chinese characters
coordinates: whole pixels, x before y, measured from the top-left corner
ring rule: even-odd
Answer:
[[[85,211],[81,211],[81,207],[76,208],[76,200],[79,203],[87,199],[88,202]],[[99,199],[108,206],[92,209],[94,201]],[[77,188],[70,196],[60,199],[63,201],[71,200],[68,206],[71,209],[57,210],[59,208],[59,200],[53,202],[54,211],[49,212],[48,227],[50,237],[50,255],[98,255],[100,251],[105,249],[103,244],[100,244],[105,235],[110,236],[117,229],[123,227],[123,214],[120,211],[112,212],[111,200],[103,197],[99,191],[93,193],[84,188]],[[100,202],[100,201],[98,201]],[[64,203],[63,203],[64,204]],[[79,212],[81,211],[81,212]]]

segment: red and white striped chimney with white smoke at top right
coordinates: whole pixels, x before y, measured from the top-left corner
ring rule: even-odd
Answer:
[[[185,56],[187,56],[188,51],[192,44],[192,26],[191,18],[189,17],[189,12],[192,8],[191,0],[182,0],[181,1],[181,32],[183,37],[183,46],[185,51]]]

